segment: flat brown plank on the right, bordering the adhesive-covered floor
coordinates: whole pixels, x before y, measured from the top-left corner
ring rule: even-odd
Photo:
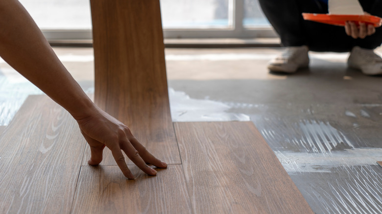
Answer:
[[[312,213],[251,122],[175,123],[194,214]]]

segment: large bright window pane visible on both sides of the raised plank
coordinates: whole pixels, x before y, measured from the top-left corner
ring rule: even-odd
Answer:
[[[43,30],[92,28],[89,0],[20,0]],[[163,27],[228,28],[233,0],[161,0]]]

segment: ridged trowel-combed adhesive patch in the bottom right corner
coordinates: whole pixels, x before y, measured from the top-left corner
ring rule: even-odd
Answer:
[[[379,166],[361,165],[335,167],[330,173],[311,173],[305,176],[303,184],[301,178],[291,177],[316,213],[380,214],[381,173]],[[315,178],[309,179],[312,176]]]

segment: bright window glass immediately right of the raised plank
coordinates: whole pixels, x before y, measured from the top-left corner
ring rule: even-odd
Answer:
[[[233,0],[161,0],[163,28],[232,26]]]

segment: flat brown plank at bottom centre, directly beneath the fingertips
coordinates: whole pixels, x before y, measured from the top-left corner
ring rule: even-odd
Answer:
[[[72,213],[191,214],[182,165],[168,165],[157,176],[130,169],[139,174],[135,180],[126,179],[117,166],[82,167]]]

